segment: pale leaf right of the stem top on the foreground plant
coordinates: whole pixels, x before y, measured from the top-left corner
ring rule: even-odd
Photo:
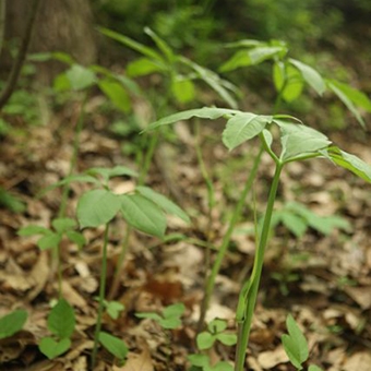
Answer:
[[[284,161],[300,159],[309,154],[319,153],[331,144],[327,136],[312,128],[280,120],[275,120],[275,122],[282,131],[283,152],[280,159]]]

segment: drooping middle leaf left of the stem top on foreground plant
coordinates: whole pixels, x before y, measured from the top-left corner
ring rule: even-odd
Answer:
[[[272,116],[259,116],[250,112],[237,113],[227,122],[223,132],[223,143],[231,151],[256,136],[271,121]]]

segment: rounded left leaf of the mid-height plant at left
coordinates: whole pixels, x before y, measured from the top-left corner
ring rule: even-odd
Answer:
[[[80,198],[77,203],[80,227],[98,227],[109,223],[119,210],[118,195],[107,190],[88,191]]]

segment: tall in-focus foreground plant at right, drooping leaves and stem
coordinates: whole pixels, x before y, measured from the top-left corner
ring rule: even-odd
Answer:
[[[263,227],[256,241],[256,252],[250,278],[243,284],[236,311],[238,323],[238,344],[236,352],[236,371],[243,370],[247,346],[249,342],[251,321],[255,308],[263,263],[264,252],[271,229],[271,219],[278,190],[280,173],[286,165],[311,158],[325,158],[331,163],[352,171],[358,177],[371,182],[371,166],[357,156],[350,155],[333,146],[331,141],[321,132],[301,123],[300,120],[287,115],[259,116],[223,108],[202,108],[178,112],[165,117],[148,127],[148,130],[170,124],[179,120],[189,120],[193,117],[202,119],[227,119],[223,132],[223,142],[228,149],[234,149],[248,140],[258,136],[264,151],[275,164],[275,173],[272,180],[267,204],[265,208]],[[275,132],[279,133],[280,153],[276,154],[273,146]]]

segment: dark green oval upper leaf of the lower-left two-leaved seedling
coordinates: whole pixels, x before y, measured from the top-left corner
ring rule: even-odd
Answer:
[[[48,328],[59,338],[71,337],[75,327],[74,311],[71,304],[59,299],[48,316]]]

